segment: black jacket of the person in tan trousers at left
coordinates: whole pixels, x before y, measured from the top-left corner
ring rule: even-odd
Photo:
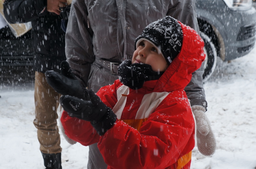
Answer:
[[[5,0],[4,16],[11,23],[32,24],[34,70],[59,72],[60,63],[66,60],[65,32],[59,15],[46,11],[47,0]]]

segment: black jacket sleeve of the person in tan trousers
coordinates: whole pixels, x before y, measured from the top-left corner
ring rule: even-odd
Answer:
[[[5,0],[4,17],[10,24],[35,20],[46,11],[47,0]]]

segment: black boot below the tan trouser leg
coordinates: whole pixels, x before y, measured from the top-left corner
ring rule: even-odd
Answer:
[[[41,152],[44,158],[45,169],[62,169],[61,167],[61,153],[46,154]]]

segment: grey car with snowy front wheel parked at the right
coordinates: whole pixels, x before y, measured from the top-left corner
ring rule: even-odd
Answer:
[[[197,0],[197,20],[205,42],[204,81],[213,73],[216,59],[233,60],[249,53],[255,44],[256,10],[252,0]]]

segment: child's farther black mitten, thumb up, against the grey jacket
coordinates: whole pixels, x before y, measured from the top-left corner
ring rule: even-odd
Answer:
[[[60,67],[61,74],[52,70],[45,72],[47,83],[61,95],[71,95],[87,100],[88,90],[83,88],[81,83],[76,79],[68,62],[62,61]]]

